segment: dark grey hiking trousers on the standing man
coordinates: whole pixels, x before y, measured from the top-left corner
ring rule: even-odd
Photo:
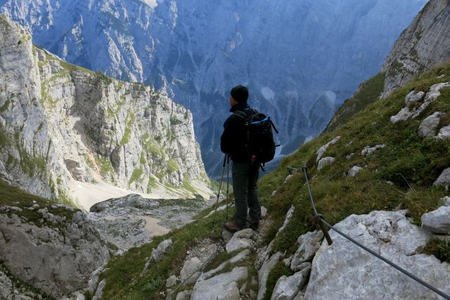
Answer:
[[[243,227],[247,225],[247,211],[249,211],[250,219],[261,218],[257,186],[259,166],[251,166],[249,162],[233,162],[231,170],[236,206],[234,221],[237,226]]]

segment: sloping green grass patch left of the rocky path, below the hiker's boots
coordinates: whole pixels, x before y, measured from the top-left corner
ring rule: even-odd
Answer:
[[[218,241],[223,217],[218,214],[216,219],[202,219],[188,224],[167,235],[155,237],[150,244],[129,249],[124,255],[115,257],[101,275],[101,279],[106,279],[104,299],[164,299],[159,292],[165,290],[169,275],[179,273],[188,248],[195,243],[195,239],[210,238]],[[167,254],[159,263],[151,264],[148,271],[141,275],[152,249],[168,237],[172,237],[174,244],[169,247]]]

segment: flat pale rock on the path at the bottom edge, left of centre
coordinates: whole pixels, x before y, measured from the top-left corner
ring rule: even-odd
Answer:
[[[236,282],[247,279],[246,267],[236,267],[207,280],[198,280],[191,294],[191,300],[239,300],[240,294]]]

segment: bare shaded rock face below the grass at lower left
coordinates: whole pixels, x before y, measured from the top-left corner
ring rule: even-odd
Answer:
[[[60,218],[39,209],[39,226],[16,214],[0,214],[0,259],[11,273],[54,297],[84,289],[109,249],[80,211]]]

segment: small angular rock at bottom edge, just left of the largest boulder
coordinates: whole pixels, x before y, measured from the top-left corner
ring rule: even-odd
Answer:
[[[304,287],[311,268],[304,268],[292,276],[281,276],[276,282],[271,300],[292,300]]]

